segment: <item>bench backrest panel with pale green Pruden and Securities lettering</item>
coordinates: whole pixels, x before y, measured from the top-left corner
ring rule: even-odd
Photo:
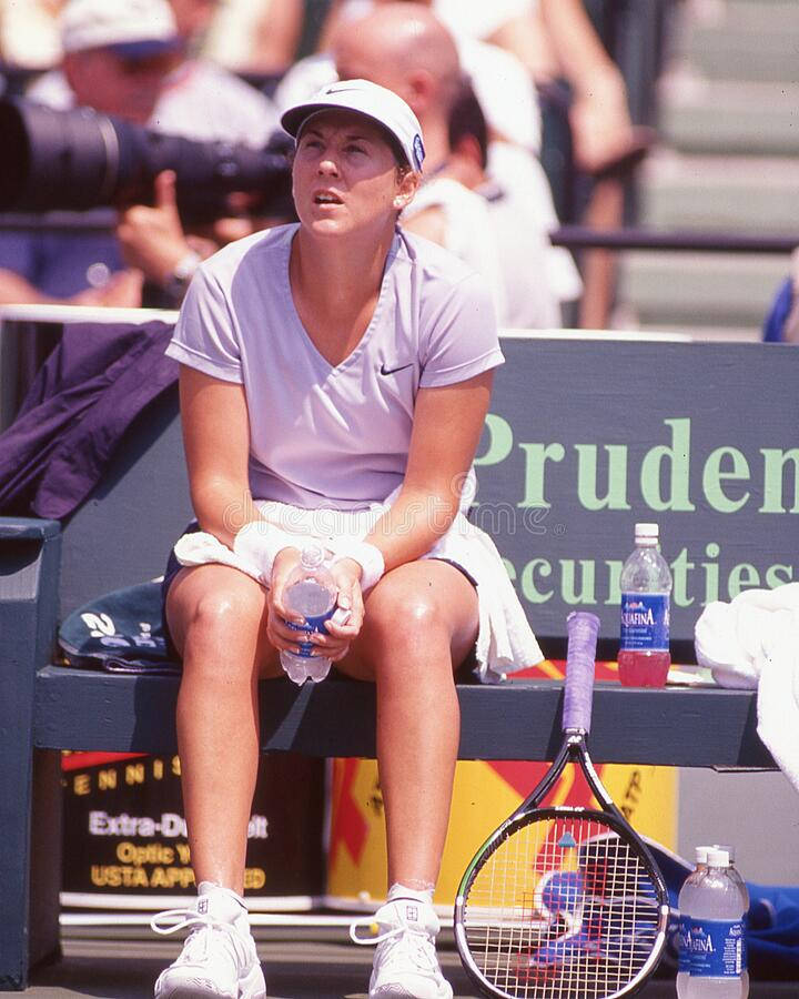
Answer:
[[[556,339],[503,350],[474,519],[513,552],[539,634],[559,634],[575,608],[617,634],[636,521],[660,525],[675,638],[692,637],[711,601],[799,578],[799,351]]]

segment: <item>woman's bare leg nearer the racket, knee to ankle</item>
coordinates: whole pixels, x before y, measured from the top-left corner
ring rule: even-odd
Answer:
[[[340,666],[377,687],[377,760],[388,885],[434,885],[444,850],[459,709],[453,669],[477,636],[474,586],[426,559],[388,573],[366,599],[364,627]]]

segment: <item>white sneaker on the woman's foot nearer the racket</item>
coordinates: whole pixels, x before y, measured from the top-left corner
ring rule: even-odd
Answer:
[[[358,937],[360,927],[377,924],[374,937]],[[350,927],[355,944],[376,944],[370,999],[452,999],[435,952],[441,929],[433,906],[422,899],[396,898],[368,919]]]

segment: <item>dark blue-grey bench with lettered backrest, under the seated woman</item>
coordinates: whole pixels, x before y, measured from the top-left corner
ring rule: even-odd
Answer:
[[[495,536],[548,656],[563,656],[565,617],[583,606],[600,616],[600,655],[614,657],[618,571],[636,519],[660,523],[675,567],[679,662],[691,662],[706,599],[799,575],[788,543],[799,513],[799,352],[568,337],[508,337],[504,350],[474,516]],[[0,988],[23,989],[29,967],[59,947],[58,750],[175,751],[178,680],[57,665],[59,620],[158,575],[188,517],[170,391],[71,519],[0,518]],[[562,694],[544,679],[458,686],[461,758],[552,759]],[[773,768],[756,726],[752,692],[604,683],[593,756]],[[368,685],[262,684],[264,751],[372,757],[374,735]]]

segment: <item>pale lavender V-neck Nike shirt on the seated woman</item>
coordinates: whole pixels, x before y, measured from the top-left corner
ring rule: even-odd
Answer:
[[[492,295],[466,264],[398,229],[372,321],[332,366],[294,307],[296,230],[256,233],[205,261],[166,353],[244,386],[256,500],[363,508],[402,483],[418,390],[503,363]]]

